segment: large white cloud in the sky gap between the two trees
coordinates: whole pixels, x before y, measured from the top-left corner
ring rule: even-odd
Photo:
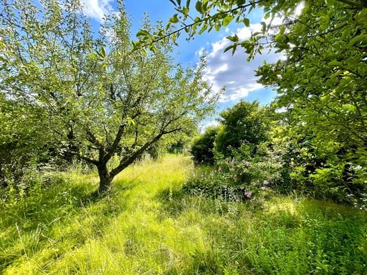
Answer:
[[[248,39],[251,32],[258,32],[261,28],[260,23],[252,24],[249,28],[238,29],[236,34],[240,40]],[[233,56],[231,50],[224,53],[224,49],[230,44],[231,41],[225,37],[212,43],[207,56],[205,78],[213,85],[213,89],[226,87],[226,92],[220,98],[220,102],[240,100],[246,98],[249,93],[262,89],[262,85],[257,83],[255,69],[258,69],[264,61],[273,63],[282,57],[282,54],[273,52],[267,54],[267,51],[264,51],[262,55],[258,54],[248,63],[247,54],[240,47]]]

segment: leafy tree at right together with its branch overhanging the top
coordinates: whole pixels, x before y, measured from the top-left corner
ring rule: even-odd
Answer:
[[[281,123],[291,142],[285,157],[289,177],[298,189],[365,205],[366,1],[199,0],[196,12],[190,1],[171,2],[178,13],[167,26],[176,25],[176,32],[140,33],[140,45],[176,41],[181,32],[191,39],[231,21],[249,27],[249,12],[264,10],[262,29],[244,41],[228,36],[231,45],[224,52],[242,47],[248,61],[264,50],[283,54],[280,61],[259,67],[257,75],[277,91],[273,106],[285,111]]]

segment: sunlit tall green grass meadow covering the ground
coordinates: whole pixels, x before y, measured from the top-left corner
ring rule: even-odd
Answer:
[[[189,157],[130,166],[103,198],[65,173],[0,205],[0,274],[367,274],[364,212],[302,197],[182,192]]]

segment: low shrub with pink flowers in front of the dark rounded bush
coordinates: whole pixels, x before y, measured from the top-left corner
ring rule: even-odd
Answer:
[[[273,192],[280,179],[279,163],[273,158],[257,155],[248,156],[249,146],[243,145],[235,157],[218,161],[210,171],[204,170],[193,175],[183,190],[192,195],[244,201]]]

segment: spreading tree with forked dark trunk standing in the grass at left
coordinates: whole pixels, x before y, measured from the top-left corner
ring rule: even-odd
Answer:
[[[45,133],[94,164],[99,191],[169,133],[196,124],[216,95],[194,69],[174,65],[171,45],[132,51],[129,18],[120,3],[94,34],[78,1],[1,1],[3,98],[39,109]],[[145,19],[143,28],[150,30]],[[21,118],[19,118],[21,119]],[[112,169],[114,155],[120,161]]]

